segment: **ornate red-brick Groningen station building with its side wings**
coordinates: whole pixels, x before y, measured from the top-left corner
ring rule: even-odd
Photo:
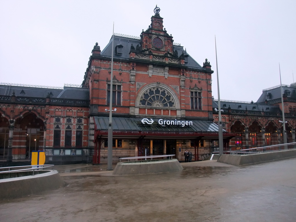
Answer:
[[[165,154],[184,160],[186,149],[202,160],[216,151],[218,107],[210,62],[199,65],[174,43],[159,8],[154,12],[139,38],[114,34],[102,51],[96,43],[79,86],[1,84],[0,158],[29,159],[32,150],[44,150],[52,164],[107,162],[110,94],[116,110],[112,161]],[[293,86],[286,88],[289,141],[295,141],[296,93]],[[256,103],[221,102],[225,150],[281,142],[276,89],[264,91]]]

